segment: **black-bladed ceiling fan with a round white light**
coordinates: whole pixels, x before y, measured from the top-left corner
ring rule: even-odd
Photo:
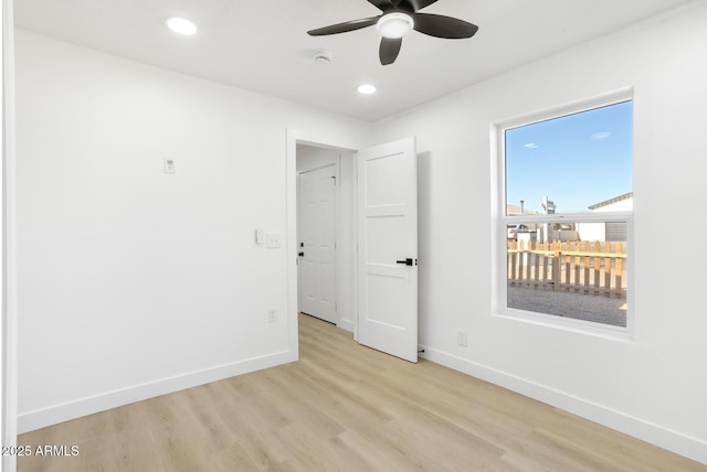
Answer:
[[[361,28],[377,25],[382,39],[380,42],[380,63],[392,64],[398,58],[402,39],[412,30],[435,37],[458,40],[472,37],[478,26],[466,21],[443,17],[441,14],[418,13],[425,7],[430,7],[437,0],[368,0],[376,6],[382,14],[360,20],[346,21],[330,26],[307,31],[312,36],[346,33]]]

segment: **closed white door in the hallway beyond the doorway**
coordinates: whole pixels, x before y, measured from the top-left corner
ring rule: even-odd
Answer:
[[[337,323],[336,168],[299,174],[299,311]]]

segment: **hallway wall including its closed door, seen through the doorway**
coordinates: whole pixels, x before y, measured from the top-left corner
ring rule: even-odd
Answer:
[[[297,142],[297,309],[355,331],[356,179],[351,151]]]

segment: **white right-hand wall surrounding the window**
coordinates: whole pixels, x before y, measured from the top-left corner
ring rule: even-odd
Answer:
[[[376,141],[418,137],[429,358],[707,463],[703,267],[695,245],[655,230],[707,230],[690,213],[707,201],[705,24],[707,3],[692,3],[380,122]],[[489,124],[623,87],[635,87],[635,341],[495,317]]]

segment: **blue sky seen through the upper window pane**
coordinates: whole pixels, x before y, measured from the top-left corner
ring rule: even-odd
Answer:
[[[624,101],[506,131],[506,203],[557,213],[633,191],[633,104]]]

